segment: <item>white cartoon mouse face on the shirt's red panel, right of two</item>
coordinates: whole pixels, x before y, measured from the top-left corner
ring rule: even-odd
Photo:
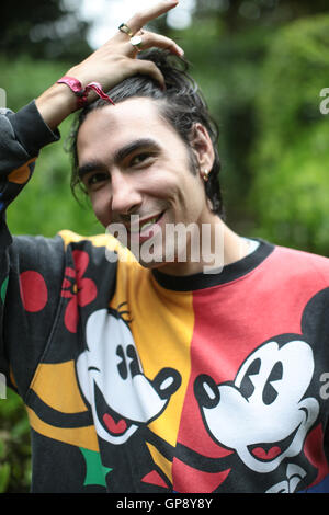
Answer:
[[[305,397],[313,373],[307,342],[273,340],[248,356],[232,384],[200,376],[195,394],[208,433],[249,469],[275,470],[300,453],[318,416],[318,401]]]

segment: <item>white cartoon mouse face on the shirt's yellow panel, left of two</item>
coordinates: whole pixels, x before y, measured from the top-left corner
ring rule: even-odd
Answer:
[[[76,364],[97,434],[115,445],[160,416],[181,384],[173,368],[160,369],[152,380],[146,377],[124,312],[109,308],[89,317],[88,348]]]

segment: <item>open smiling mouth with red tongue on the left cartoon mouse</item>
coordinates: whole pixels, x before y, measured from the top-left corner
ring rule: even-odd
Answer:
[[[103,428],[112,436],[122,436],[133,425],[127,419],[123,419],[113,411],[106,403],[103,393],[94,382],[94,402],[97,407],[98,419]]]

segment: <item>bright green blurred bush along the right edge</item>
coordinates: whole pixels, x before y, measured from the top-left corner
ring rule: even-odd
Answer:
[[[329,253],[329,16],[296,21],[275,36],[257,99],[258,138],[250,204],[263,237]]]

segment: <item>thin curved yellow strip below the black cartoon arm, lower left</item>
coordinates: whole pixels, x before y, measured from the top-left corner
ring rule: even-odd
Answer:
[[[53,425],[43,422],[31,408],[26,407],[26,410],[30,424],[37,433],[66,444],[99,451],[99,443],[94,426],[90,425],[78,428],[54,427]]]

